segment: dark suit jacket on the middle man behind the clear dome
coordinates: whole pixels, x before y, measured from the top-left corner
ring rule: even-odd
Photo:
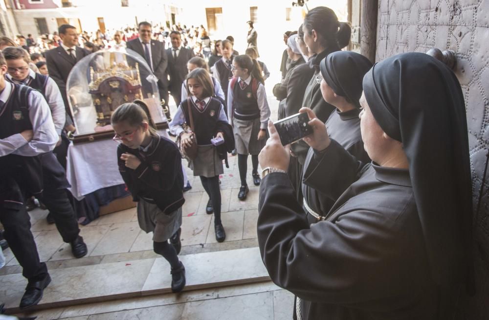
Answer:
[[[136,51],[144,59],[144,48],[139,38],[127,43],[127,48]],[[158,87],[168,89],[168,57],[166,55],[165,44],[156,40],[151,40],[151,60],[153,62],[153,74],[158,78]],[[146,60],[145,60],[146,61]]]

